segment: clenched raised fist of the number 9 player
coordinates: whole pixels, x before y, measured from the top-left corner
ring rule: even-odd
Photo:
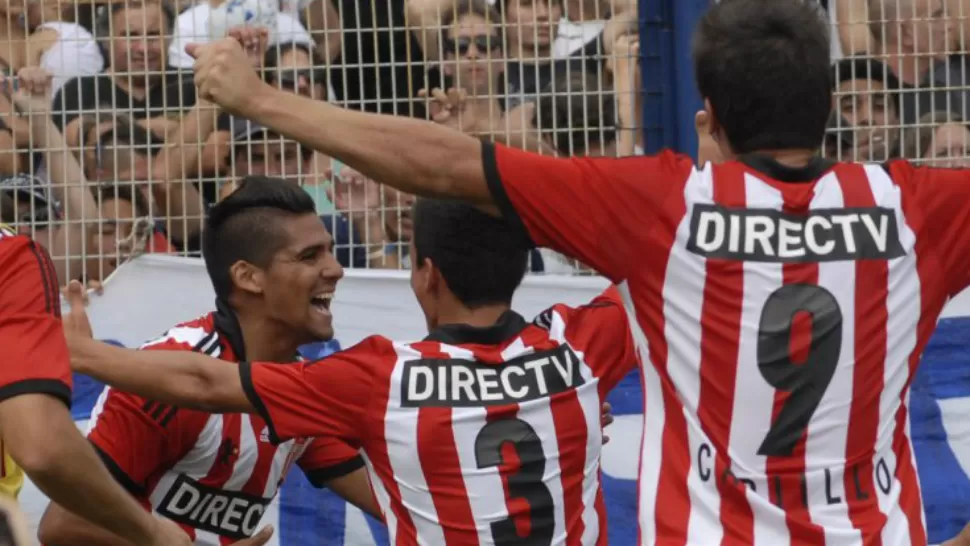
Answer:
[[[251,28],[209,44],[187,45],[186,53],[195,59],[199,96],[230,114],[248,117],[262,100],[261,95],[273,91],[256,74],[247,57],[247,51],[258,47],[258,29]]]

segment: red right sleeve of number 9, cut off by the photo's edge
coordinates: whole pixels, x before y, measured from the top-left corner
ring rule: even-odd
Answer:
[[[887,170],[903,188],[907,221],[923,227],[917,244],[936,249],[941,260],[937,273],[945,276],[947,294],[955,296],[970,285],[970,170],[916,167],[907,161],[893,161]]]

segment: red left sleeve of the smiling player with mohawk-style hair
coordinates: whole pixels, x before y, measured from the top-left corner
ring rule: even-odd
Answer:
[[[194,414],[108,388],[91,416],[88,440],[115,480],[144,497],[150,479],[194,443],[189,439],[205,422],[193,420]]]

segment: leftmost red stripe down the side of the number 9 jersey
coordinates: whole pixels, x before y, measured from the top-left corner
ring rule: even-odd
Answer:
[[[697,175],[694,175],[697,176]],[[664,336],[664,299],[663,287],[667,275],[667,263],[674,246],[677,226],[687,214],[686,203],[683,198],[684,186],[689,180],[689,173],[683,173],[680,180],[671,183],[680,187],[670,189],[669,198],[664,207],[668,216],[657,219],[656,229],[650,230],[643,252],[651,259],[645,260],[642,271],[639,272],[635,283],[631,283],[631,296],[637,313],[637,323],[643,329],[650,347],[650,361],[644,361],[640,356],[641,377],[647,373],[644,369],[653,366],[660,376],[661,392],[647,392],[643,389],[644,411],[647,410],[647,396],[661,396],[664,408],[664,430],[661,438],[660,450],[663,458],[660,463],[660,479],[657,484],[656,507],[653,514],[644,514],[637,500],[637,513],[640,525],[656,525],[656,544],[664,546],[680,546],[687,542],[687,524],[690,519],[690,496],[687,491],[687,475],[690,472],[690,446],[687,443],[687,423],[684,419],[684,408],[680,398],[674,391],[670,375],[667,373],[668,347]],[[667,183],[668,181],[664,181]],[[678,198],[673,196],[678,195]],[[641,385],[644,385],[641,379]],[[644,416],[646,418],[646,416]],[[644,446],[642,441],[640,453],[643,449],[657,449],[657,446]],[[640,483],[640,473],[637,474],[637,484]],[[639,495],[638,495],[639,497]],[[645,521],[650,518],[650,521]],[[640,537],[637,543],[640,544]],[[653,546],[653,545],[651,545]]]

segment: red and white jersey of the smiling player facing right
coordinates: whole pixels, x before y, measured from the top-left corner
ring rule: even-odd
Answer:
[[[235,362],[242,336],[230,313],[180,324],[142,349]],[[89,426],[88,439],[115,478],[199,545],[250,536],[294,463],[317,487],[363,466],[357,449],[339,441],[298,437],[275,445],[256,415],[176,408],[111,388]]]

